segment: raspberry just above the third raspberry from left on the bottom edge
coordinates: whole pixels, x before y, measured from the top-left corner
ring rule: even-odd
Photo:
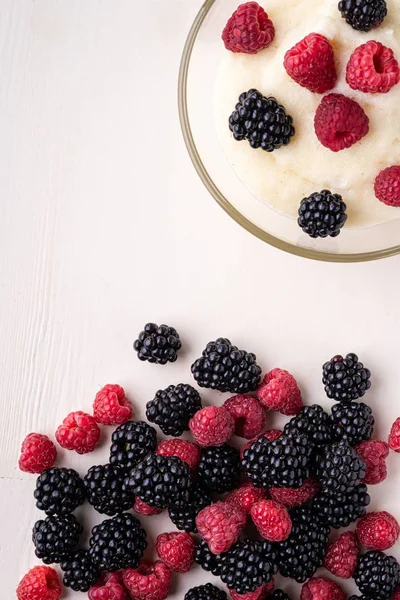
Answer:
[[[167,567],[186,573],[194,562],[195,543],[189,533],[161,533],[156,542],[157,554]]]

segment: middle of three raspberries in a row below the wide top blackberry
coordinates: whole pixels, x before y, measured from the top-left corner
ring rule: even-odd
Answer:
[[[260,435],[265,427],[265,411],[259,402],[247,394],[232,396],[224,403],[235,419],[235,433],[246,440]]]

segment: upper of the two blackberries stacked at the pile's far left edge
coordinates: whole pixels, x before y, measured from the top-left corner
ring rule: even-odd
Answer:
[[[68,515],[85,501],[85,486],[74,469],[51,467],[36,480],[36,506],[47,515]]]

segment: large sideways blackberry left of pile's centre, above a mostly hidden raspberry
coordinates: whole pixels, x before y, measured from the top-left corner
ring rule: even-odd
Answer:
[[[187,500],[190,485],[189,467],[180,458],[149,454],[131,470],[124,489],[132,491],[149,506],[166,508],[179,500]]]

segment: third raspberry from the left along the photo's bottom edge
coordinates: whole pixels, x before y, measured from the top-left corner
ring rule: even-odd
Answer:
[[[168,596],[171,571],[161,560],[142,560],[137,569],[125,569],[124,586],[136,600],[164,600]]]

